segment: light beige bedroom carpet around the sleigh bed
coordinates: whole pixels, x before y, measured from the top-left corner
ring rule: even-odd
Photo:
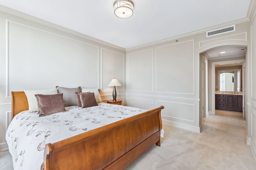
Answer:
[[[210,115],[202,133],[163,127],[161,147],[152,146],[126,170],[256,170],[244,119]],[[8,151],[0,152],[0,170],[13,170]]]

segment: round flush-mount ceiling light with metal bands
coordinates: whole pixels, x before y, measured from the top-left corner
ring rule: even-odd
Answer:
[[[133,14],[134,4],[131,0],[116,0],[114,13],[119,18],[129,18]]]

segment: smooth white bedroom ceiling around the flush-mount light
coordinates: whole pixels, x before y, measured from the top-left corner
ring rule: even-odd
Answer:
[[[134,14],[114,15],[115,0],[0,0],[0,5],[130,49],[248,17],[251,0],[133,0]]]

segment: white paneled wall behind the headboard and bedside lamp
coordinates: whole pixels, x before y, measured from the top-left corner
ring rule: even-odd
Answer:
[[[0,150],[8,148],[11,91],[82,86],[99,88],[106,102],[112,78],[125,84],[125,49],[41,22],[0,12]],[[122,104],[124,87],[117,87]]]

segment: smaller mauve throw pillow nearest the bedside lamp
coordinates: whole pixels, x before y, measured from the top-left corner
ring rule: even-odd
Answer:
[[[79,93],[82,108],[98,106],[94,93]]]

